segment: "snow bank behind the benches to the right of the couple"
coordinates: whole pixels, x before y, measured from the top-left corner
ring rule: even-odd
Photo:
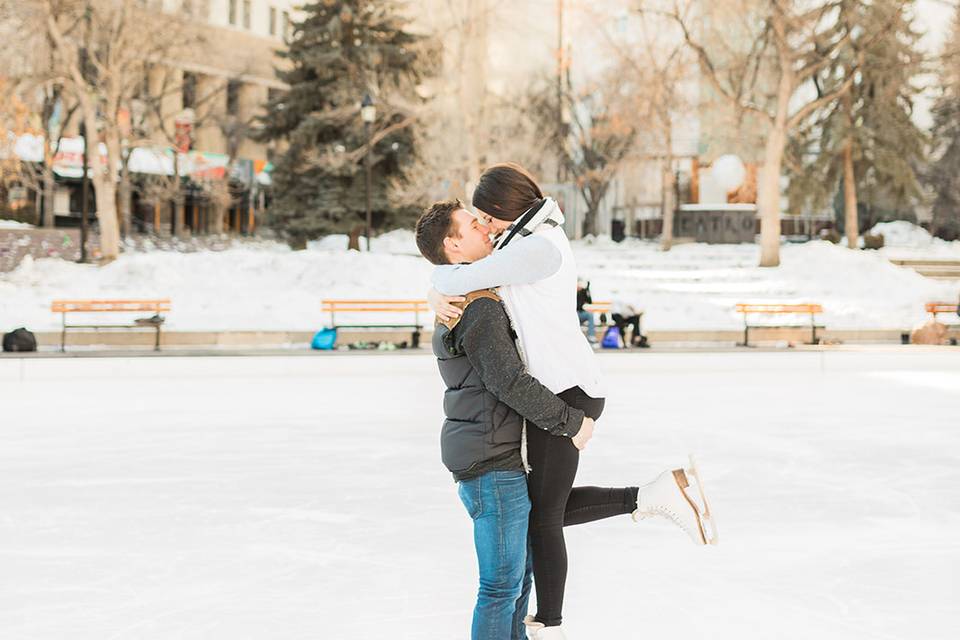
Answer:
[[[685,244],[664,253],[627,240],[593,250],[575,243],[594,300],[620,299],[645,310],[648,329],[737,329],[738,302],[820,303],[834,329],[909,329],[924,303],[953,299],[957,283],[929,280],[876,251],[824,241],[784,245],[776,268],[757,266],[756,245]]]

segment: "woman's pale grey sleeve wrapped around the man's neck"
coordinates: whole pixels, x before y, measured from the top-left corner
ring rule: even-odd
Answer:
[[[444,295],[460,296],[505,284],[530,284],[549,278],[562,263],[563,256],[552,242],[531,235],[474,263],[434,268],[433,287]]]

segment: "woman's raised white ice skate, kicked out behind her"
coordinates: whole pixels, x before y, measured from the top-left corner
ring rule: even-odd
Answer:
[[[691,479],[700,493],[700,504],[687,493]],[[719,541],[717,523],[710,513],[703,479],[693,456],[690,456],[688,468],[664,471],[656,480],[640,487],[633,519],[639,521],[654,516],[672,520],[687,532],[694,544],[717,544]]]

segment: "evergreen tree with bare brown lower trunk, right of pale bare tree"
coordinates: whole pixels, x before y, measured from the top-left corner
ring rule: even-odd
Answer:
[[[829,93],[853,74],[853,86],[814,113],[791,144],[791,205],[820,208],[833,199],[851,248],[863,227],[911,216],[921,197],[926,135],[912,120],[922,72],[920,34],[911,25],[914,4],[838,3],[834,37],[846,44],[816,85]]]

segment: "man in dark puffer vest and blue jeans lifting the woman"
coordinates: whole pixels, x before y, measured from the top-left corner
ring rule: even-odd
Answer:
[[[473,262],[492,248],[486,225],[457,200],[433,205],[416,239],[434,264]],[[475,291],[459,306],[459,317],[438,323],[433,350],[447,385],[441,455],[474,522],[480,589],[472,638],[521,640],[531,586],[524,418],[580,449],[594,425],[526,373],[496,294]]]

